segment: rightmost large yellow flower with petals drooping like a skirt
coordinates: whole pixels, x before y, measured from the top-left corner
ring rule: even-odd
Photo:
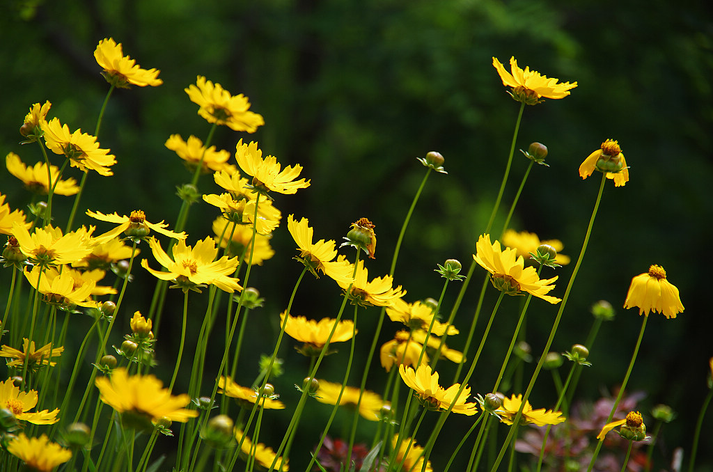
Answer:
[[[678,289],[666,279],[666,271],[660,265],[652,265],[649,272],[631,279],[624,307],[638,307],[639,314],[646,316],[649,312],[663,313],[669,319],[683,312]]]

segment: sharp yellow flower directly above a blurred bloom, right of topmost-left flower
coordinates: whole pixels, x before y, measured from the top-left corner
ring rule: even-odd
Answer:
[[[224,90],[220,83],[213,85],[205,77],[198,76],[196,85],[184,88],[188,93],[188,98],[193,103],[197,103],[198,114],[205,118],[208,123],[227,125],[234,131],[247,131],[255,133],[258,126],[265,124],[261,115],[249,111],[250,102],[242,95],[231,96],[230,92]]]

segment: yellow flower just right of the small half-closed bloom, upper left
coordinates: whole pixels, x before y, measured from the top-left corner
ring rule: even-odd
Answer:
[[[72,167],[84,172],[96,170],[99,175],[113,175],[110,165],[116,164],[116,158],[108,149],[99,148],[96,137],[82,130],[69,132],[67,125],[61,125],[57,118],[41,123],[47,147],[55,154],[64,155]]]

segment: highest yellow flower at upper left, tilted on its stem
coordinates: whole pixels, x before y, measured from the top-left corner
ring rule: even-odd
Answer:
[[[94,51],[96,62],[104,69],[101,75],[108,83],[120,88],[129,88],[129,85],[139,87],[160,86],[163,81],[158,77],[158,69],[143,69],[129,56],[124,56],[121,43],[116,43],[112,38],[99,41]]]

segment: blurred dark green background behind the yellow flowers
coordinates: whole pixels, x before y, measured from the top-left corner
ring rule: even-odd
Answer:
[[[183,92],[198,75],[233,94],[245,93],[252,111],[265,117],[265,126],[254,135],[219,128],[214,144],[232,153],[238,139],[257,140],[264,153],[284,165],[303,165],[304,177],[312,179],[312,186],[297,195],[276,196],[284,217],[308,217],[317,238],[334,240],[359,217],[376,224],[379,244],[376,260],[368,265],[371,275],[389,270],[401,222],[424,174],[416,158],[429,150],[441,152],[448,175],[429,178],[396,267],[396,283],[408,290],[409,302],[438,297],[442,285],[432,272],[436,263],[453,257],[466,268],[470,265],[475,241],[490,215],[518,111],[491,66],[492,56],[506,64],[515,56],[523,67],[560,81],[578,81],[571,96],[525,109],[517,147],[526,149],[535,140],[544,143],[550,168],[533,168],[512,226],[562,240],[563,252],[576,259],[599,179],[595,175],[582,181],[578,166],[606,138],[619,140],[631,180],[625,188],[605,189],[553,350],[564,352],[583,342],[593,320],[590,305],[609,300],[617,318],[602,327],[591,349],[594,366],[582,376],[577,396],[597,399],[614,388],[625,373],[641,322],[635,310],[621,308],[630,279],[651,264],[665,267],[686,311],[675,320],[652,316],[629,389],[647,393],[640,409],[648,421],[650,408],[658,403],[678,413],[665,429],[664,448],[655,455],[657,466],[667,467],[678,446],[687,456],[707,393],[707,361],[713,356],[709,309],[703,300],[709,293],[705,284],[712,260],[706,248],[713,218],[706,190],[713,175],[713,21],[705,2],[9,0],[0,11],[0,61],[6,71],[0,75],[1,155],[14,151],[26,163],[39,159],[35,148],[19,145],[17,132],[32,103],[49,100],[51,116],[72,130],[93,132],[108,89],[93,59],[99,40],[111,36],[141,66],[161,71],[163,86],[113,94],[100,142],[111,148],[118,164],[111,178],[89,176],[83,208],[119,214],[142,208],[149,220],[173,223],[180,207],[175,186],[190,175],[163,143],[173,133],[205,140],[210,126]],[[515,155],[496,228],[527,164]],[[199,186],[205,193],[216,191],[210,176]],[[14,208],[25,207],[31,198],[4,167],[0,189]],[[71,203],[60,201],[63,206],[56,215],[61,220]],[[189,243],[210,234],[216,216],[214,207],[195,205]],[[90,222],[86,215],[79,221]],[[301,270],[289,259],[294,242],[286,224],[275,232],[272,245],[275,259],[253,271],[250,279],[267,302],[251,318],[255,328],[243,350],[245,372],[238,378],[244,384],[257,374],[259,354],[272,350],[277,314]],[[555,294],[560,297],[571,270],[558,271]],[[145,283],[130,287],[133,294],[122,315],[127,321],[133,310],[148,309],[153,292],[154,281],[145,273],[139,277]],[[482,277],[478,268],[456,319],[461,332],[468,329]],[[9,274],[2,273],[0,280],[6,283]],[[457,289],[446,294],[446,313]],[[322,279],[309,280],[292,312],[334,316],[338,294]],[[181,297],[174,298],[166,320],[173,312],[180,319]],[[493,293],[486,312],[491,299]],[[475,392],[486,393],[508,345],[520,300],[506,302],[496,322],[497,336],[486,345],[483,359],[488,361],[481,360],[478,368],[482,376],[476,371],[471,381]],[[194,297],[193,304],[198,325],[204,300]],[[556,312],[545,305],[535,301],[528,317],[526,338],[535,355]],[[362,315],[364,339],[371,339],[378,314],[369,309]],[[387,320],[384,341],[396,329]],[[162,327],[158,374],[163,379],[170,372],[166,364],[178,349],[179,334],[178,321]],[[464,336],[449,344],[462,347]],[[368,342],[362,344],[365,351]],[[307,361],[295,359],[289,345],[283,356],[289,356],[287,376],[275,383],[289,403],[298,394],[292,384],[304,376]],[[362,361],[354,371],[360,372]],[[339,381],[342,365],[327,361],[322,376]],[[368,386],[379,392],[386,377],[374,371]],[[351,383],[358,381],[359,376],[352,375]],[[547,376],[532,398],[535,406],[554,403]],[[312,405],[310,414],[326,418],[328,410]],[[274,418],[273,431],[261,438],[277,446],[289,414]],[[458,433],[469,425],[448,421]],[[317,442],[318,429],[313,431],[312,423],[322,424],[304,423],[304,443],[296,444],[292,454],[295,470],[309,457],[296,451]],[[368,441],[374,425],[363,423],[360,433]],[[713,447],[710,429],[704,431],[699,470],[713,467],[707,451]],[[339,425],[332,432],[342,433]],[[164,447],[171,447],[169,440]],[[432,459],[438,470],[447,456]]]

